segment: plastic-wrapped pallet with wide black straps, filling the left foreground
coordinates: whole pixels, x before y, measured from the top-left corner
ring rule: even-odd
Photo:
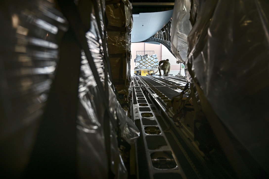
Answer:
[[[105,1],[57,2],[57,10],[53,0],[1,2],[1,176],[127,178],[118,147],[139,131],[106,71]]]

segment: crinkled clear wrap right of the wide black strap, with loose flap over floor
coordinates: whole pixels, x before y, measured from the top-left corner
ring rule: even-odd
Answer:
[[[104,37],[103,33],[104,32],[100,33],[98,31],[96,18],[94,14],[91,14],[91,29],[86,33],[86,38],[100,80],[103,82],[104,88],[105,85],[108,85],[108,91],[106,92],[109,98],[106,99],[105,96],[100,95],[95,81],[96,79],[94,79],[85,53],[82,51],[79,111],[77,114],[79,171],[80,175],[85,178],[108,178],[109,164],[115,178],[127,178],[128,173],[118,149],[118,138],[122,138],[129,144],[132,144],[139,137],[139,130],[121,108],[111,87],[111,82],[109,80],[105,81],[105,75],[108,74],[104,72],[105,59],[103,48],[107,48],[107,46],[106,44],[102,44],[101,41],[101,38]],[[125,41],[125,39],[123,41]],[[122,58],[119,60],[122,60]],[[121,61],[119,61],[119,63],[121,63]],[[113,64],[114,63],[111,63],[112,68]],[[128,71],[128,66],[125,68],[126,71]],[[113,71],[112,74],[114,76]],[[107,104],[102,102],[102,98],[105,98],[109,106],[110,116],[113,116],[112,119],[109,119],[111,129],[111,131],[109,131],[111,161],[108,161],[105,147],[105,137],[107,136],[105,136],[104,123],[108,122],[108,120],[104,119],[104,114],[107,110],[105,107]]]

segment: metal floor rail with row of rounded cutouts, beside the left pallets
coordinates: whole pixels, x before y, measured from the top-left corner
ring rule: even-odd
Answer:
[[[132,96],[137,99],[137,103],[133,103],[133,120],[140,130],[139,178],[187,178],[159,123],[161,114],[142,87],[132,88]],[[138,97],[141,95],[143,97]]]

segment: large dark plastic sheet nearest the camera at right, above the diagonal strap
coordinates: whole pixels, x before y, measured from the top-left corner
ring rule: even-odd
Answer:
[[[188,36],[193,66],[187,70],[221,121],[268,172],[269,4],[212,0],[195,8]]]

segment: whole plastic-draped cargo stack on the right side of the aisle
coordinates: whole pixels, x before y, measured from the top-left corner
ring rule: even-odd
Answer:
[[[268,7],[257,0],[178,0],[172,17],[172,52],[186,64],[197,101],[194,138],[209,134],[210,124],[238,178],[269,173]]]

